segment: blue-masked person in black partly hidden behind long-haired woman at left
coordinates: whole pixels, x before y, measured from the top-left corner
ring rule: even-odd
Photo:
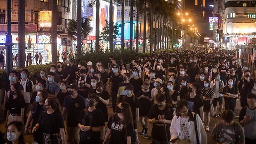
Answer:
[[[39,83],[38,83],[39,84]],[[41,113],[44,111],[44,102],[48,98],[48,93],[45,90],[39,90],[37,92],[35,102],[33,103],[32,109],[29,112],[28,119],[25,125],[25,133],[28,131],[28,127],[32,122],[31,127],[34,127],[37,124],[37,121],[41,115]],[[41,129],[38,129],[33,133],[34,141],[42,144],[43,143],[43,138],[42,138],[42,131]]]

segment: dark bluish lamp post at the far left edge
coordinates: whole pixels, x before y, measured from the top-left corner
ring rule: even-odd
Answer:
[[[11,0],[7,0],[7,35],[6,35],[6,74],[13,69],[12,62],[12,31],[11,31]]]

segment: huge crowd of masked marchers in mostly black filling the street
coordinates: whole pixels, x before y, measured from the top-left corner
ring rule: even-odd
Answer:
[[[235,51],[180,49],[131,63],[113,56],[108,61],[58,62],[41,70],[36,83],[27,69],[11,71],[4,99],[7,143],[25,143],[28,131],[39,144],[140,143],[138,134],[149,139],[150,125],[153,144],[256,143],[254,80]],[[207,140],[210,114],[221,121]]]

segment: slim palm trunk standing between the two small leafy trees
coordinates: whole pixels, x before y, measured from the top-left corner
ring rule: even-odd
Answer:
[[[96,43],[95,51],[100,51],[100,0],[96,0]]]

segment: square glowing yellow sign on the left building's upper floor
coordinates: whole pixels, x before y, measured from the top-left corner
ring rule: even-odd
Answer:
[[[39,12],[39,27],[40,28],[52,27],[52,11]]]

